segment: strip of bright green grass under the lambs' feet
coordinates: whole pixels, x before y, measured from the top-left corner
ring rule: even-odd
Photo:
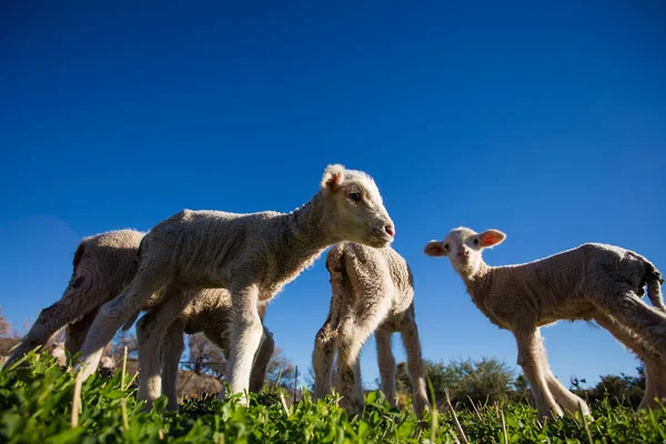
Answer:
[[[418,421],[411,412],[391,408],[381,393],[367,395],[360,417],[347,417],[335,400],[304,400],[285,411],[278,393],[251,395],[250,406],[232,397],[188,400],[180,413],[142,411],[131,389],[122,389],[121,372],[91,377],[82,387],[79,426],[71,426],[74,375],[47,355],[28,359],[30,366],[0,373],[0,442],[9,443],[455,443],[463,442],[450,412],[428,413]],[[125,376],[124,385],[129,384]],[[123,420],[123,405],[127,412]],[[595,421],[579,416],[542,424],[523,404],[490,405],[456,412],[471,443],[663,443],[666,408],[634,413],[593,405]]]

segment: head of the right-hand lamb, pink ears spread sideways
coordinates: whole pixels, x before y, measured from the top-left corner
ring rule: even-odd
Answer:
[[[451,230],[443,241],[428,242],[423,252],[433,258],[448,256],[451,265],[460,275],[471,278],[483,263],[483,250],[502,243],[505,238],[506,234],[497,230],[477,233],[461,226]]]

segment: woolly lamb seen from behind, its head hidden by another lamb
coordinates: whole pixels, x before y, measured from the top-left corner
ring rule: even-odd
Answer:
[[[421,416],[430,403],[414,311],[414,278],[406,261],[390,246],[373,249],[345,242],[331,249],[326,269],[333,295],[312,354],[315,397],[331,391],[333,355],[337,351],[335,386],[342,395],[341,405],[350,414],[363,408],[359,359],[363,344],[375,332],[382,391],[397,406],[391,335],[400,332],[407,353],[414,412]]]

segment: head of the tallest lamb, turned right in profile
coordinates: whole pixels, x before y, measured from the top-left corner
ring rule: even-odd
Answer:
[[[381,248],[393,241],[395,226],[370,175],[342,165],[329,165],[321,185],[326,205],[325,223],[330,224],[337,242]]]

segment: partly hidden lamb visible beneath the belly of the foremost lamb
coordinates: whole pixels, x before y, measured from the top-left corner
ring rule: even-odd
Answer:
[[[263,322],[265,304],[260,304],[259,314]],[[161,375],[155,356],[151,350],[160,346],[157,335],[151,332],[153,322],[161,317],[161,306],[147,313],[137,323],[139,342],[139,387],[149,393],[145,408],[160,396],[160,380],[162,394],[167,395],[167,410],[178,410],[176,380],[180,356],[184,349],[183,333],[203,334],[216,346],[224,356],[229,356],[230,326],[232,322],[231,294],[223,289],[206,289],[194,293],[184,310],[168,326],[161,341]],[[259,392],[263,386],[266,367],[273,355],[274,341],[272,333],[264,325],[261,346],[256,353],[250,377],[250,392]]]

